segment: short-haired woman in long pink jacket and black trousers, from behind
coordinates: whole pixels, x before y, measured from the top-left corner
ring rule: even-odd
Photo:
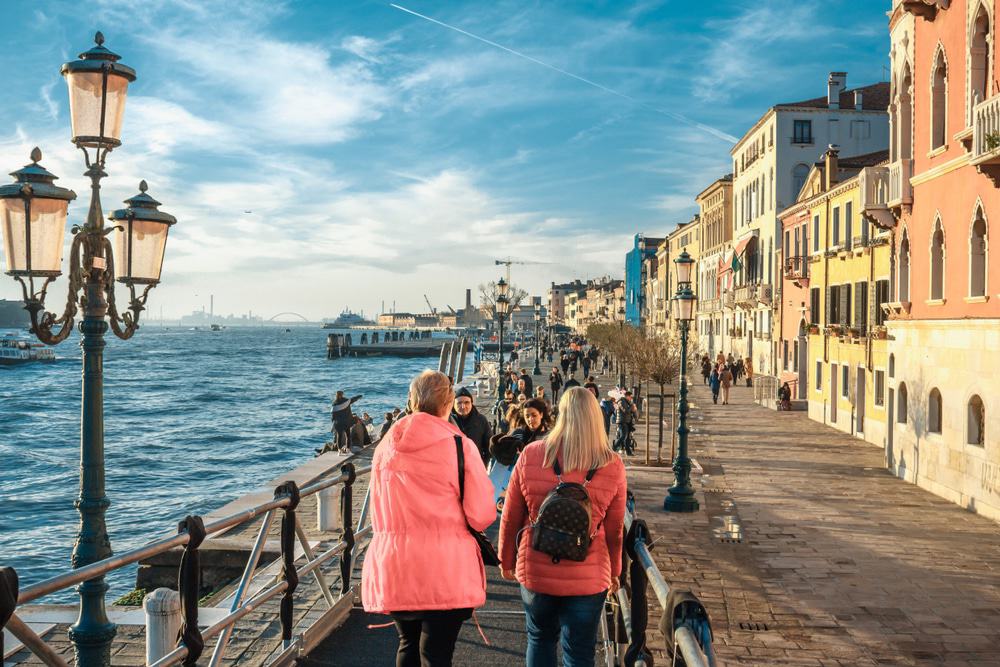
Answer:
[[[373,536],[361,599],[366,611],[392,616],[397,667],[451,665],[462,623],[486,602],[486,572],[466,520],[476,530],[496,520],[493,485],[476,445],[448,422],[454,400],[448,376],[418,375],[413,414],[393,424],[372,460]],[[464,503],[455,436],[465,458]]]

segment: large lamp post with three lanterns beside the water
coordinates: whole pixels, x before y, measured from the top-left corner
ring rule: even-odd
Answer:
[[[111,556],[105,524],[110,503],[104,491],[104,335],[109,325],[121,339],[130,338],[138,329],[149,291],[160,280],[167,233],[176,222],[157,210],[159,202],[146,194],[143,181],[140,193],[125,202],[128,207],[109,216],[115,225],[104,226],[101,179],[107,176],[108,153],[121,145],[125,97],[135,71],[104,47],[101,33],[95,42],[79,60],[62,66],[69,87],[72,141],[83,151],[91,194],[86,222],[72,229],[69,290],[61,315],[46,311],[45,298],[50,283],[62,273],[67,208],[76,194],[53,184],[56,176],[39,164],[42,153],[38,148],[31,152],[31,164],[11,174],[15,182],[0,186],[7,274],[21,284],[32,333],[43,343],[56,345],[73,330],[77,313],[83,315],[79,325],[83,350],[80,494],[76,501],[80,528],[73,547],[74,568]],[[114,243],[108,238],[112,232]],[[121,313],[115,302],[116,280],[129,289],[127,310]],[[80,667],[111,663],[115,625],[105,613],[107,588],[102,575],[77,589],[79,616],[69,636]]]

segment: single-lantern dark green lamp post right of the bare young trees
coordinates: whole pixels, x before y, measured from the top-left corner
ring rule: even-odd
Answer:
[[[691,291],[691,271],[694,260],[685,251],[674,260],[677,266],[677,291],[672,299],[674,320],[681,331],[681,372],[678,382],[680,388],[677,400],[677,458],[674,459],[674,485],[667,491],[663,500],[663,509],[668,512],[694,512],[698,509],[698,499],[694,497],[694,487],[691,486],[691,459],[687,450],[687,336],[688,326],[694,319],[694,306],[697,297]]]

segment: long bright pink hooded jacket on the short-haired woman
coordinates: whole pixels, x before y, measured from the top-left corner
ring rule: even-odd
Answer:
[[[463,609],[486,602],[479,546],[465,527],[496,520],[493,485],[479,450],[462,438],[465,507],[458,501],[457,426],[418,412],[396,422],[375,448],[373,529],[361,576],[365,610]]]

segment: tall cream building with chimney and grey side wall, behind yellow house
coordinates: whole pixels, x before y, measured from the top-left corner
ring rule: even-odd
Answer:
[[[839,146],[844,156],[888,147],[888,93],[885,83],[849,90],[847,73],[831,72],[825,97],[772,107],[731,151],[731,351],[752,358],[757,373],[777,374],[771,335],[781,273],[774,261],[782,238],[777,213],[797,200],[828,145]]]

